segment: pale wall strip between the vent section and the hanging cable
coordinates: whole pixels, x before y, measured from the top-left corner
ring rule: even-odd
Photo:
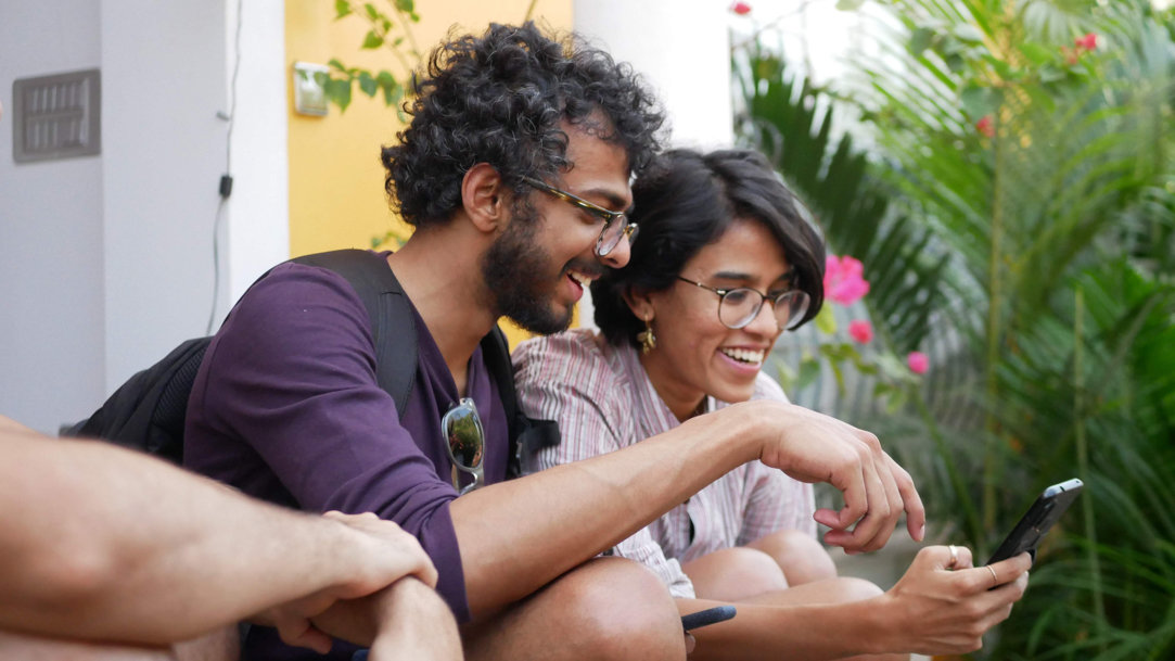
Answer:
[[[208,321],[224,5],[105,1],[101,29],[109,390]]]

